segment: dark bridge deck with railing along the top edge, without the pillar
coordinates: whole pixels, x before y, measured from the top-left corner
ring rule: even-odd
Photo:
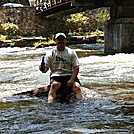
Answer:
[[[36,0],[37,14],[45,16],[68,10],[74,7],[112,7],[116,5],[133,5],[133,0]]]

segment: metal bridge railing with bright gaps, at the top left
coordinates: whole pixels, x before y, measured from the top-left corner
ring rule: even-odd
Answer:
[[[71,2],[71,0],[35,0],[37,13],[43,12],[49,8]]]

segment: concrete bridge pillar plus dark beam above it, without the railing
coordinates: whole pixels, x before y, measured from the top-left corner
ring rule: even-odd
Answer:
[[[110,7],[105,26],[105,53],[134,52],[134,0],[72,0],[77,7]]]

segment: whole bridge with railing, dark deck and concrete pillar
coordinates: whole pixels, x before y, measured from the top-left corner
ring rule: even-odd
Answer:
[[[134,52],[134,0],[36,0],[38,15],[69,9],[110,7],[111,20],[105,26],[105,53]]]

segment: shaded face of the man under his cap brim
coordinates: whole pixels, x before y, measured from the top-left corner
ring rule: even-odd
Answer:
[[[57,44],[57,49],[59,51],[64,51],[66,46],[66,38],[64,38],[63,36],[59,36],[55,41]]]

